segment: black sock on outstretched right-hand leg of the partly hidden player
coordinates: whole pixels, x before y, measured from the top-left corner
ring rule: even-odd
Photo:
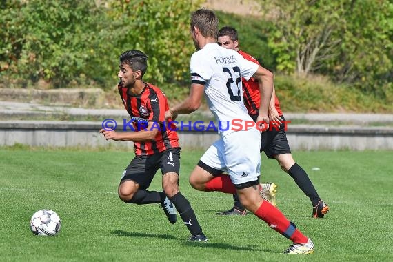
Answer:
[[[301,166],[297,163],[294,163],[294,165],[292,165],[292,167],[288,170],[288,174],[294,179],[296,185],[299,186],[301,191],[310,198],[312,206],[318,205],[321,199],[319,198],[314,185],[312,185],[308,174],[303,170],[303,168],[301,168]]]

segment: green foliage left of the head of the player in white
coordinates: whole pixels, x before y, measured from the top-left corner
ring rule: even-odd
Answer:
[[[0,77],[109,88],[119,55],[139,49],[150,57],[146,80],[187,82],[194,50],[188,24],[199,3],[193,2],[10,1],[0,9]]]

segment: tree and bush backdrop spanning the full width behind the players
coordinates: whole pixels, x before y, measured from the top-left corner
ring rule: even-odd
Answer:
[[[294,84],[303,83],[294,76],[312,83],[317,75],[349,94],[348,88],[355,88],[393,103],[389,0],[255,1],[261,6],[258,17],[216,13],[220,26],[238,28],[241,48],[285,77],[281,90],[292,92]],[[190,14],[203,2],[1,1],[0,85],[112,88],[119,54],[140,49],[150,57],[145,79],[180,98],[188,92],[180,87],[188,86],[194,52]]]

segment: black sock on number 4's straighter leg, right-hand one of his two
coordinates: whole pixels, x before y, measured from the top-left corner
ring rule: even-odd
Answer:
[[[202,228],[198,223],[198,219],[196,219],[194,210],[192,210],[190,202],[181,194],[181,192],[170,197],[170,201],[176,207],[177,212],[179,212],[181,219],[183,219],[190,233],[193,236],[201,234]]]

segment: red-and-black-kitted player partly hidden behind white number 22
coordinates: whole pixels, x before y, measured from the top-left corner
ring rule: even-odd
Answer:
[[[239,40],[237,30],[235,28],[225,26],[219,30],[218,41],[219,46],[224,48],[234,49],[241,54],[248,61],[252,61],[259,65],[259,62],[241,50],[239,50]],[[243,83],[243,99],[248,114],[256,121],[259,111],[259,101],[261,94],[259,92],[259,84],[256,79],[249,79],[246,81],[242,79]],[[265,152],[266,156],[270,159],[276,159],[281,166],[281,169],[288,173],[304,192],[310,198],[312,203],[312,216],[323,217],[329,211],[328,205],[325,204],[316,192],[314,185],[310,181],[308,174],[298,165],[291,154],[290,145],[285,134],[285,118],[280,108],[279,99],[276,97],[275,90],[273,89],[272,100],[268,110],[270,125],[266,132],[261,133],[261,152]],[[234,195],[234,208],[231,210],[221,212],[219,214],[245,214],[245,209],[239,202],[239,198]]]

